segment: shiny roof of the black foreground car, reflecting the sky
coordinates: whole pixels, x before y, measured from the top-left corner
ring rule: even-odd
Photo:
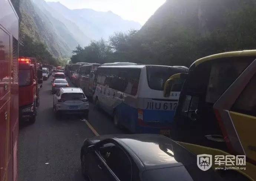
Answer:
[[[195,156],[190,151],[163,135],[103,135],[91,138],[90,141],[96,143],[108,138],[124,144],[126,149],[131,150],[140,159],[145,170],[195,164]]]

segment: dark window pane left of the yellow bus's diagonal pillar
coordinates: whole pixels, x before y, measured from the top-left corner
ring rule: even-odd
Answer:
[[[249,63],[241,60],[232,63],[226,61],[213,63],[207,87],[206,102],[215,103]]]

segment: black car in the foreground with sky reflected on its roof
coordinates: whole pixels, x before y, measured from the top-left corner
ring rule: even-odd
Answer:
[[[86,139],[81,163],[91,181],[222,180],[212,169],[201,171],[196,155],[186,148],[155,134]]]

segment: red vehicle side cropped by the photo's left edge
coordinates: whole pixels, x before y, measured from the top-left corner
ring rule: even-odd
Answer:
[[[19,17],[10,0],[0,1],[0,180],[18,180]]]

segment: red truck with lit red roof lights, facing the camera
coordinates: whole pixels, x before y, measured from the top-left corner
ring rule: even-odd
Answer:
[[[39,63],[29,57],[19,58],[19,113],[20,120],[36,121],[39,106],[39,85],[42,84],[42,70]]]

